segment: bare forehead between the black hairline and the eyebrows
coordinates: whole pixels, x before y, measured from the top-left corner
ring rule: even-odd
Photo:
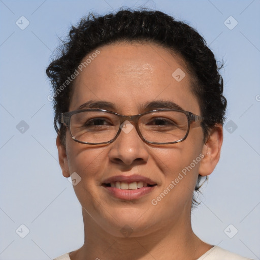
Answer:
[[[82,63],[85,66],[74,80],[70,110],[90,100],[103,100],[113,103],[117,112],[141,113],[144,103],[165,100],[199,113],[185,63],[168,49],[119,43],[101,47],[98,55],[91,55],[82,60],[92,57],[91,62]]]

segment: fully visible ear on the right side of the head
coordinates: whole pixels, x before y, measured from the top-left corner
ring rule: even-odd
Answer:
[[[210,175],[215,169],[219,161],[222,142],[223,142],[223,126],[217,124],[211,130],[207,141],[203,145],[202,154],[204,155],[204,157],[201,160],[201,164],[199,168],[199,174],[201,176]]]

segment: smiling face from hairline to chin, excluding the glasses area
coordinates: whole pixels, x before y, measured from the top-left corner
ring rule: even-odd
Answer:
[[[150,44],[112,44],[99,50],[74,80],[70,111],[89,108],[82,106],[89,101],[104,101],[113,107],[91,108],[136,115],[147,111],[146,104],[163,101],[200,115],[191,76],[179,56]],[[176,70],[185,73],[182,80],[172,76]],[[135,128],[127,134],[122,131],[107,145],[77,143],[67,130],[66,148],[57,144],[63,175],[76,172],[81,177],[74,189],[85,220],[118,237],[125,226],[131,228],[132,236],[141,236],[185,223],[199,172],[210,174],[218,160],[207,163],[206,152],[219,153],[203,142],[202,128],[196,123],[191,123],[185,141],[170,145],[147,144]],[[109,187],[116,181],[143,181],[148,186]]]

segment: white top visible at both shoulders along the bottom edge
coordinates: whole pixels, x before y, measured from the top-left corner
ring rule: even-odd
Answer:
[[[67,253],[53,260],[71,260],[71,258],[69,256],[69,253]],[[250,260],[250,259],[240,256],[238,254],[234,254],[227,250],[224,250],[219,246],[214,246],[197,260]]]

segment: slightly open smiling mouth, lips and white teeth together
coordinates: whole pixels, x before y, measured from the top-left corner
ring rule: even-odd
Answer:
[[[113,197],[121,200],[136,200],[150,193],[157,183],[149,178],[132,176],[115,176],[106,179],[102,187]]]

